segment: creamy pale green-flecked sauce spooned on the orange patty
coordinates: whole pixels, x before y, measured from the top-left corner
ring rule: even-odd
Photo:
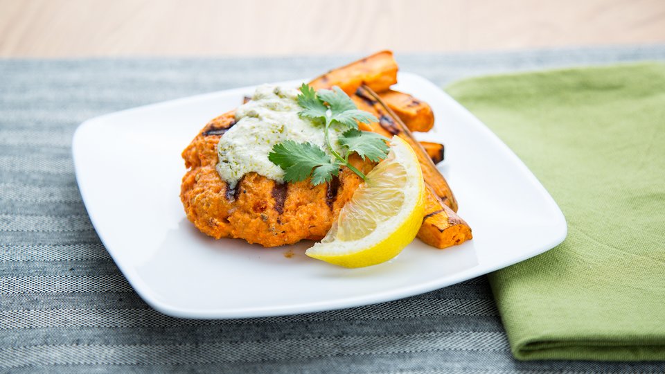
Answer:
[[[302,108],[296,97],[300,91],[291,87],[264,84],[251,100],[236,109],[236,124],[225,132],[217,146],[217,171],[229,188],[235,188],[243,175],[256,172],[275,181],[284,181],[284,171],[268,159],[274,145],[285,140],[328,147],[323,127],[298,116]],[[330,128],[330,143],[339,152],[337,138],[341,131]]]

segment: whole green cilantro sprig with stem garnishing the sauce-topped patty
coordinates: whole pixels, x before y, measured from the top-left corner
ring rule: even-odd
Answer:
[[[339,168],[346,166],[360,176],[365,175],[348,162],[348,157],[356,152],[364,160],[380,161],[388,153],[385,136],[358,130],[358,122],[371,123],[378,121],[375,116],[358,109],[342,89],[335,86],[332,90],[319,89],[304,84],[300,87],[298,105],[303,110],[299,116],[323,127],[328,152],[323,152],[318,145],[296,143],[287,140],[274,145],[268,159],[284,170],[287,182],[303,181],[312,177],[314,186],[330,181],[333,175],[339,174]],[[330,127],[346,130],[339,136],[337,143],[342,150],[339,154],[330,143]]]

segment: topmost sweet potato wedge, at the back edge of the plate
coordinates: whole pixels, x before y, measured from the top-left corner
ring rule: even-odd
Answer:
[[[314,89],[339,86],[351,95],[366,84],[375,91],[386,91],[397,83],[397,62],[391,51],[382,51],[346,66],[333,69],[310,82]]]

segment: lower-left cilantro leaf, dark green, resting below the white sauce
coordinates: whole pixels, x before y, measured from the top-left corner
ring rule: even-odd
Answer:
[[[333,162],[318,145],[311,143],[284,141],[274,145],[268,159],[284,170],[287,182],[303,181],[312,175],[313,169],[312,184],[317,186],[339,173],[339,164]]]

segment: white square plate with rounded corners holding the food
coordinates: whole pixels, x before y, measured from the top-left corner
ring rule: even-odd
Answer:
[[[297,82],[282,84],[297,85]],[[495,134],[432,82],[400,73],[396,89],[425,100],[445,143],[438,167],[474,239],[438,250],[419,240],[393,260],[344,269],[308,258],[312,242],[266,249],[213,240],[187,220],[179,199],[180,152],[211,118],[254,87],[107,114],[73,139],[81,195],[100,239],[136,292],[175,317],[240,318],[316,312],[400,299],[538,255],[565,238],[560,209]]]

